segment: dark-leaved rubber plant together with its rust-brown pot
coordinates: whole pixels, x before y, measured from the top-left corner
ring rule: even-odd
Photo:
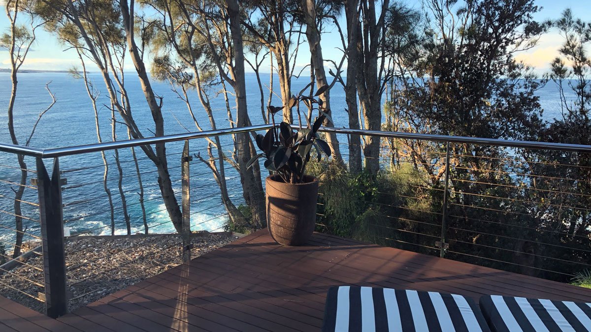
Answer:
[[[306,90],[310,84],[304,88]],[[318,129],[328,117],[324,112],[322,95],[328,86],[320,87],[314,96],[292,96],[290,108],[297,108],[300,119],[296,131],[286,122],[275,125],[275,114],[282,107],[269,106],[273,128],[267,134],[256,136],[256,145],[262,153],[248,162],[251,167],[259,158],[264,157],[265,168],[271,172],[265,181],[267,191],[267,227],[273,239],[282,245],[303,245],[310,239],[316,225],[316,203],[318,198],[318,179],[306,174],[306,165],[310,161],[313,147],[318,161],[322,153],[330,156],[329,145],[320,139]],[[300,102],[307,108],[302,124]],[[312,114],[318,116],[312,121]],[[329,118],[330,119],[330,118]]]

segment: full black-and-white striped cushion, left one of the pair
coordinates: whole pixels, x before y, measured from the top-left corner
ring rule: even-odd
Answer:
[[[356,286],[329,289],[322,330],[490,331],[478,305],[461,295]]]

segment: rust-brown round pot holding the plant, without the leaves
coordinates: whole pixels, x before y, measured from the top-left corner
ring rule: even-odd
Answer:
[[[276,181],[267,177],[267,227],[271,237],[282,245],[303,245],[316,226],[318,179],[305,176],[307,183]]]

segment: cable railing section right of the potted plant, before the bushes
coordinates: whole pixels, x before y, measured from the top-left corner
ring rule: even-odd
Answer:
[[[374,188],[353,185],[348,193],[348,184],[337,181],[332,191],[330,183],[343,175],[320,177],[317,229],[563,282],[590,270],[591,147],[407,133],[377,135],[394,139],[404,151],[394,151],[382,141],[381,169]],[[430,146],[426,151],[414,150],[417,141]],[[495,155],[476,154],[485,147]],[[340,149],[347,150],[348,144],[340,144]],[[418,158],[418,154],[423,155]],[[350,174],[346,178],[351,181]],[[323,193],[323,187],[327,192]],[[369,194],[354,198],[353,204],[345,203],[359,190]],[[361,213],[343,226],[355,204],[364,206]],[[364,216],[368,210],[374,213]],[[364,234],[356,233],[357,229]]]

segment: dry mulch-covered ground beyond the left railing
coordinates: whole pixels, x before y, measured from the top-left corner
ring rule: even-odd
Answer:
[[[191,258],[232,242],[226,233],[202,233],[193,237]],[[71,292],[69,311],[97,301],[139,281],[160,274],[182,263],[181,237],[118,237],[115,239],[79,237],[66,242],[67,285]],[[40,243],[30,242],[35,248]],[[43,288],[43,259],[35,256],[0,275],[0,295],[25,307],[44,313],[44,303],[27,296],[38,296]],[[17,291],[16,289],[20,290]]]

